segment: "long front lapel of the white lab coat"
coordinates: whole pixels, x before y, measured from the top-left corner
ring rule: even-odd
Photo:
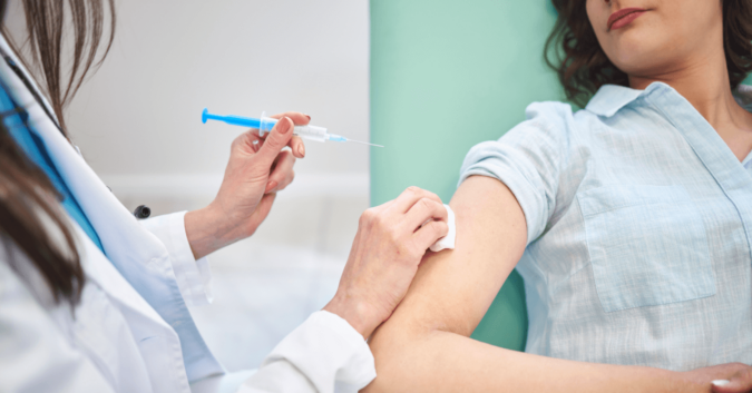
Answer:
[[[6,53],[12,53],[4,37],[0,45]],[[107,258],[177,332],[188,379],[223,373],[183,299],[164,245],[109,191],[4,61],[0,77],[13,99],[29,112],[29,125],[45,141],[60,176],[97,232]]]

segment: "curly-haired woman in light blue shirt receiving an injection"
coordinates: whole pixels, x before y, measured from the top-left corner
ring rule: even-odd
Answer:
[[[470,150],[456,249],[372,337],[368,391],[752,391],[752,1],[554,3],[587,105]],[[469,338],[515,267],[527,353]]]

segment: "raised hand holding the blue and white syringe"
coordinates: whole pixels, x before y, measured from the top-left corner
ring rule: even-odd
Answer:
[[[280,120],[264,137],[248,130],[235,138],[217,196],[207,207],[185,215],[194,257],[253,235],[272,209],[276,191],[295,177],[293,165],[305,156],[305,147],[293,136],[293,127],[307,125],[310,117],[299,112],[273,117]]]

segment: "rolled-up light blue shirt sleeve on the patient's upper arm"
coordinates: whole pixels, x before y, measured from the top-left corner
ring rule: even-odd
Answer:
[[[525,213],[530,244],[544,233],[555,208],[573,115],[572,108],[561,102],[535,102],[527,107],[526,117],[498,140],[470,149],[462,163],[460,184],[480,175],[509,187]]]

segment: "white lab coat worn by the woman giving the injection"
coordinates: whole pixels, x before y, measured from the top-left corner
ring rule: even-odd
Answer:
[[[4,38],[0,46],[14,58]],[[4,61],[0,80],[29,112],[106,253],[74,223],[87,285],[71,311],[51,301],[14,245],[0,242],[0,391],[187,393],[191,383],[224,374],[187,307],[207,303],[209,272],[206,259],[193,258],[185,213],[136,220]],[[8,257],[21,267],[9,268]],[[355,391],[374,377],[362,336],[318,312],[238,391]]]

